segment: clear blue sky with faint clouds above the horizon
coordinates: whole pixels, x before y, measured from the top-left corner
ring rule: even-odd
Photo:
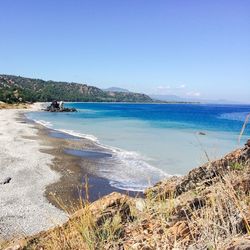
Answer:
[[[249,0],[1,0],[0,73],[250,103]]]

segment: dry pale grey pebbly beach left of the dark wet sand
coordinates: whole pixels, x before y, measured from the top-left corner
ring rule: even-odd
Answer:
[[[0,239],[31,235],[67,219],[44,196],[46,186],[60,174],[50,168],[53,156],[40,151],[48,147],[34,139],[37,129],[19,119],[26,111],[0,110],[0,182],[11,178],[0,184]]]

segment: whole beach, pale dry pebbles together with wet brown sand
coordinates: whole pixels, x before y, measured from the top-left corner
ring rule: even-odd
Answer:
[[[111,192],[140,196],[110,186],[91,174],[97,159],[66,154],[65,148],[95,148],[91,140],[48,129],[28,120],[25,113],[40,110],[43,103],[26,109],[0,110],[0,240],[34,235],[62,224],[68,213],[85,198],[94,201]],[[101,149],[99,149],[101,150]],[[39,223],[38,223],[39,222]]]

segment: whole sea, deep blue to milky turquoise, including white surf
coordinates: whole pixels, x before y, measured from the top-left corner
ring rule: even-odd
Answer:
[[[239,147],[250,105],[67,103],[77,113],[31,112],[49,128],[88,138],[110,159],[93,174],[121,189],[143,190]],[[240,145],[250,137],[246,126]]]

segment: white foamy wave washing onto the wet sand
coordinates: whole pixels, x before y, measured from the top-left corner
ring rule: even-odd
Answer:
[[[54,128],[51,122],[35,119],[34,121],[46,128],[91,140],[99,147],[111,152],[111,160],[105,160],[104,162],[101,160],[101,168],[98,169],[98,173],[96,174],[108,179],[110,185],[115,188],[141,192],[161,179],[172,176],[148,164],[146,161],[151,159],[143,157],[137,152],[100,144],[98,138],[94,135],[78,133],[74,130]]]

